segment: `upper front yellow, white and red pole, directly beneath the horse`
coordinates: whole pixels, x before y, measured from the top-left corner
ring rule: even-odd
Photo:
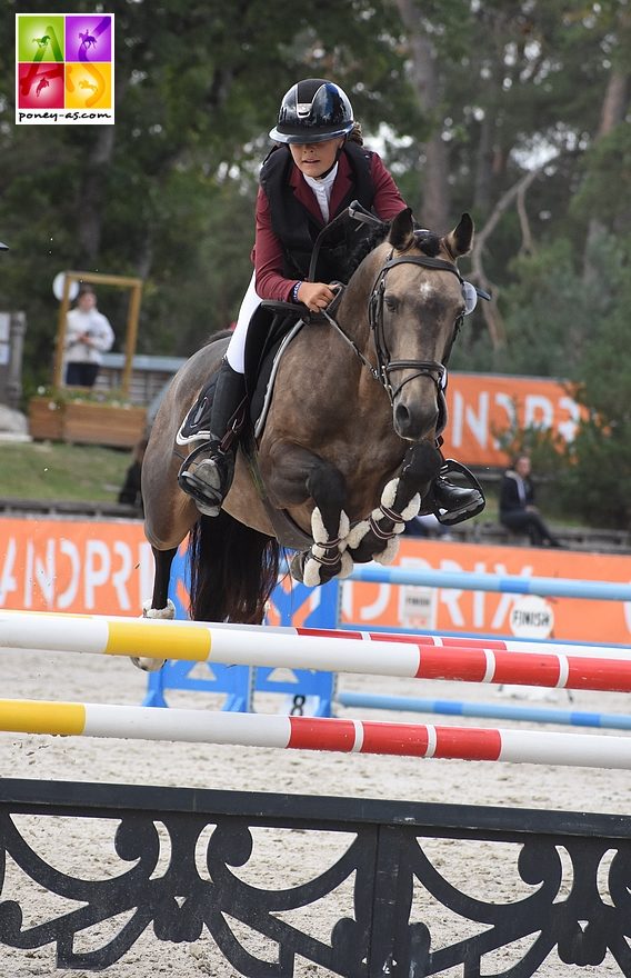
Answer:
[[[347,637],[338,641],[325,632],[292,635],[264,628],[253,632],[239,626],[216,628],[201,622],[11,612],[0,615],[2,647],[631,692],[631,657],[628,650],[613,646],[579,646],[571,651],[564,647],[561,653],[548,652],[538,643],[517,652]]]

